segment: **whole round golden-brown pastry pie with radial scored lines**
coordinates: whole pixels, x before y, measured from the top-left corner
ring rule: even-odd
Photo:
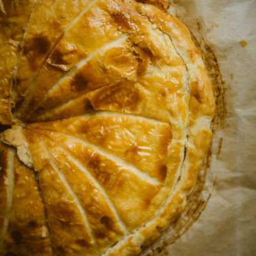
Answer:
[[[139,255],[184,210],[214,96],[167,8],[0,1],[1,255]]]

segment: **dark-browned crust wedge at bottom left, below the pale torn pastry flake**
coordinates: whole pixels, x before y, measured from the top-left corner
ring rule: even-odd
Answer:
[[[35,173],[17,156],[13,170],[12,208],[0,252],[3,255],[50,256],[49,231]]]

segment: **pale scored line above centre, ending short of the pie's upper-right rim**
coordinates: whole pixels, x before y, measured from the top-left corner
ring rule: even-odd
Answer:
[[[36,104],[36,106],[31,109],[31,111],[28,113],[28,115],[26,115],[26,119],[29,119],[29,116],[33,113],[33,111],[35,111],[35,109],[42,103],[44,102],[44,100],[47,98],[47,94],[51,93],[53,90],[55,90],[56,88],[58,88],[58,85],[63,83],[63,81],[65,81],[66,79],[70,78],[72,75],[74,75],[76,73],[77,70],[79,70],[79,68],[81,68],[84,64],[86,64],[87,61],[91,60],[93,58],[93,56],[95,56],[96,54],[98,54],[101,51],[105,51],[106,49],[109,49],[113,46],[115,46],[116,44],[118,44],[118,42],[120,41],[125,41],[127,39],[128,35],[124,34],[122,36],[120,36],[119,38],[116,38],[115,40],[109,42],[108,44],[103,45],[102,47],[100,47],[99,49],[97,49],[97,51],[92,52],[91,54],[89,54],[86,58],[84,58],[84,60],[79,61],[79,63],[77,63],[74,67],[72,67],[67,74],[64,74],[64,76],[61,76],[61,78],[58,80],[57,83],[55,83],[52,88],[44,95],[42,96],[42,99]]]

